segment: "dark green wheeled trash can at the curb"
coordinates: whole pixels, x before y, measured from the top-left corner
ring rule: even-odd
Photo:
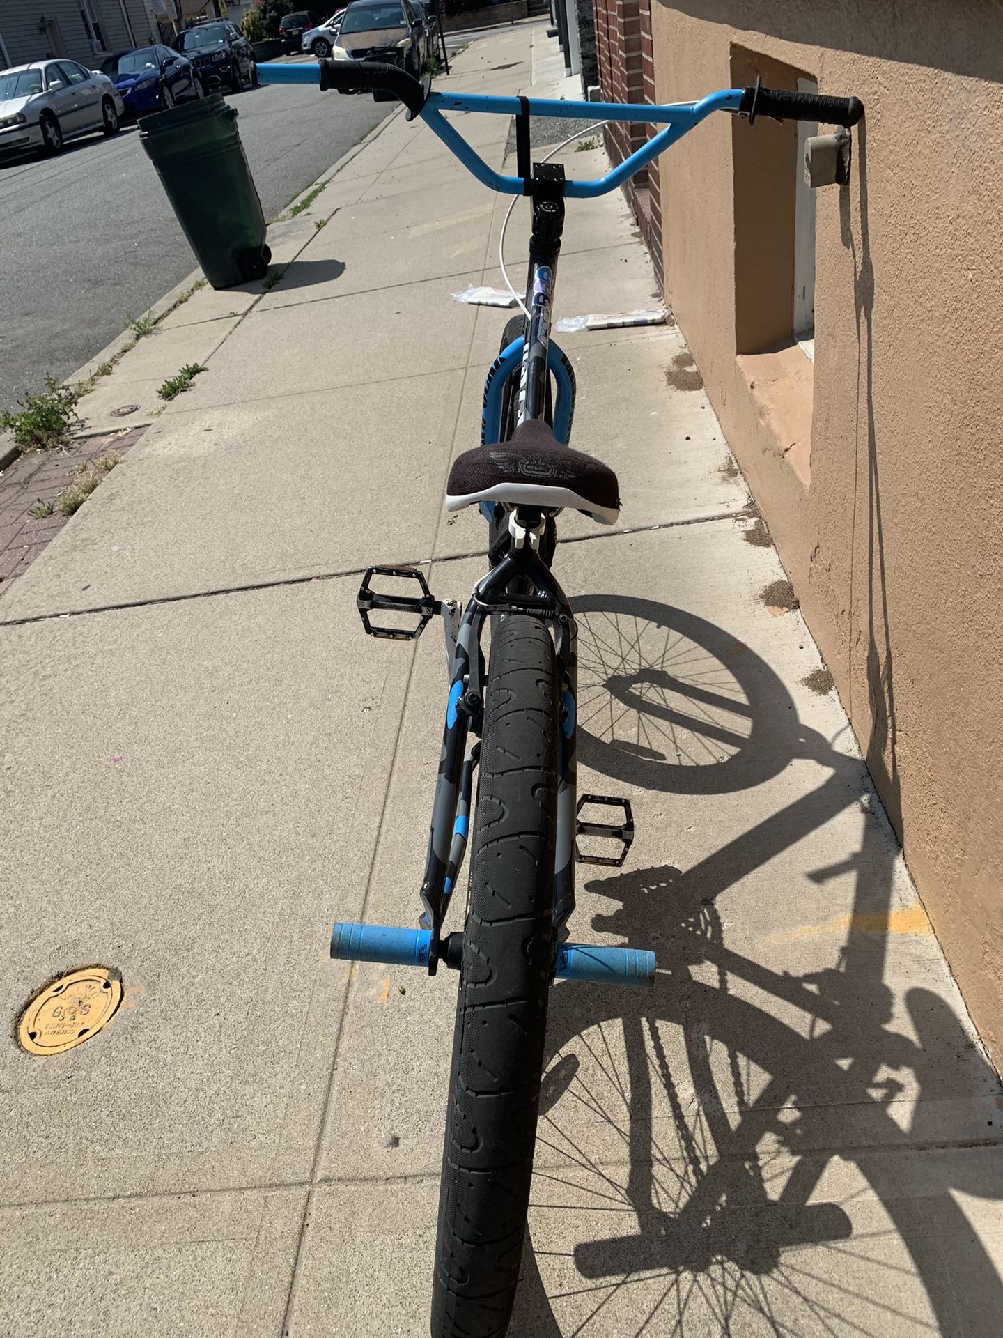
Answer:
[[[265,214],[237,111],[222,94],[142,116],[139,142],[213,288],[263,278],[271,261]]]

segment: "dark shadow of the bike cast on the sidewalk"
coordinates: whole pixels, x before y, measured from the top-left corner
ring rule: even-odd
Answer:
[[[897,847],[861,761],[805,728],[777,674],[721,628],[621,597],[575,613],[582,764],[694,797],[798,761],[824,779],[689,870],[583,879],[608,904],[591,927],[654,949],[658,978],[552,991],[539,1140],[559,1168],[536,1175],[510,1331],[841,1338],[928,1333],[932,1318],[956,1338],[994,1333],[1003,1284],[952,1192],[1003,1198],[1003,1153],[986,1128],[972,1155],[951,1121],[959,1089],[988,1097],[999,1082],[923,983],[921,954],[899,963],[897,998],[885,979],[889,926],[925,918],[896,906]],[[820,868],[805,851],[814,886],[853,884],[832,965],[777,970],[769,935],[762,962],[730,947],[721,894],[732,914],[742,879],[852,808],[857,848]],[[868,1185],[887,1216],[868,1210],[855,1228]]]

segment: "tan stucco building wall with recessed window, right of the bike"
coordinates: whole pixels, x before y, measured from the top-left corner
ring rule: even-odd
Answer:
[[[718,115],[662,159],[666,288],[999,1064],[1003,5],[655,0],[653,36],[659,102],[748,50],[867,107],[851,185],[816,191],[813,368],[749,352],[793,282],[786,169],[746,155],[790,127]]]

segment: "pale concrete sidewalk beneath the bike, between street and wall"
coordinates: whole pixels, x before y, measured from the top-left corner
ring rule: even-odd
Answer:
[[[552,83],[544,32],[443,84]],[[461,130],[502,162],[507,123]],[[366,638],[354,594],[483,571],[443,495],[510,313],[449,294],[499,284],[506,207],[386,122],[273,286],[138,347],[207,371],[0,598],[4,1013],[92,962],[126,986],[67,1054],[3,1049],[4,1335],[428,1333],[456,979],[328,937],[419,910],[441,640]],[[516,206],[514,276],[524,238]],[[572,202],[558,314],[655,298],[622,198]],[[579,784],[638,828],[574,937],[659,977],[554,990],[511,1334],[995,1335],[1000,1085],[699,376],[674,326],[560,343],[623,496],[559,524]],[[146,393],[131,356],[96,393]]]

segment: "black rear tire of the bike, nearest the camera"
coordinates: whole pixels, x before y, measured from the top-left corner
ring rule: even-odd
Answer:
[[[535,618],[497,619],[449,1069],[433,1338],[502,1338],[530,1204],[551,965],[558,673]]]

